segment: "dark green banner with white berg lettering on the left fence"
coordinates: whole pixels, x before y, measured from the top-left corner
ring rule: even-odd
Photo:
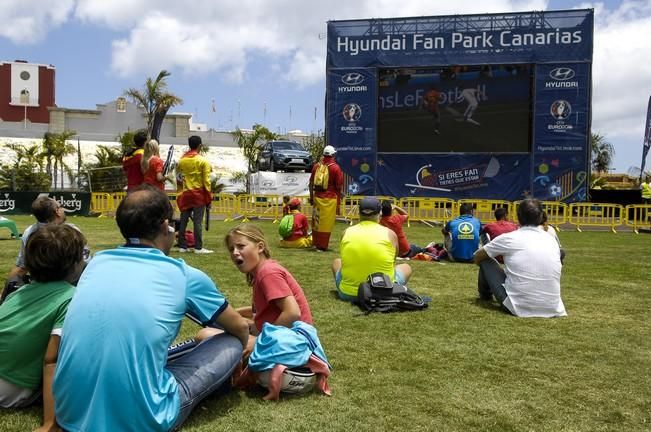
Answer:
[[[90,212],[88,192],[0,192],[0,215],[31,214],[32,202],[40,195],[54,198],[67,215],[88,216]]]

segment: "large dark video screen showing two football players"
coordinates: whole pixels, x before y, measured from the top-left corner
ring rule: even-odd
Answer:
[[[528,153],[533,68],[379,69],[378,152]]]

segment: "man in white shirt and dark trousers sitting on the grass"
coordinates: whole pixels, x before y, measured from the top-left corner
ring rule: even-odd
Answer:
[[[518,206],[520,229],[502,234],[474,255],[479,266],[479,297],[493,296],[519,317],[566,316],[561,299],[561,254],[558,243],[538,225],[540,201],[526,199]],[[504,269],[494,260],[504,257]]]

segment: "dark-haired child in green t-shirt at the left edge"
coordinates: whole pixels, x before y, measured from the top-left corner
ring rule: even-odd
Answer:
[[[58,430],[52,380],[61,328],[74,292],[70,282],[83,269],[85,244],[83,234],[69,225],[39,228],[25,249],[32,283],[0,305],[0,407],[29,406],[42,388],[43,426],[38,431]]]

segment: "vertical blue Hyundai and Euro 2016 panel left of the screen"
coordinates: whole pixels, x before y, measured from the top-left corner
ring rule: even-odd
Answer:
[[[377,79],[375,69],[328,71],[326,141],[337,149],[347,193],[375,193]]]

